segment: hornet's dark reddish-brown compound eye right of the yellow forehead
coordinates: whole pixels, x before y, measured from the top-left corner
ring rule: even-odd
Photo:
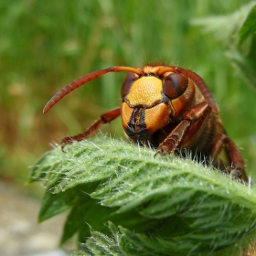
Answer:
[[[163,92],[170,99],[175,99],[186,91],[188,78],[182,74],[171,73],[165,78]]]

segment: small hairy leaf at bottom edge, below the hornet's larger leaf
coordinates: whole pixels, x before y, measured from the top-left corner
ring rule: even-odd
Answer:
[[[236,244],[224,247],[221,251],[198,252],[197,246],[191,250],[190,247],[186,248],[183,241],[172,238],[169,240],[155,239],[122,227],[116,228],[112,222],[109,222],[108,226],[111,230],[111,237],[91,229],[91,237],[81,244],[81,248],[86,251],[83,255],[239,255],[237,254],[239,248]]]

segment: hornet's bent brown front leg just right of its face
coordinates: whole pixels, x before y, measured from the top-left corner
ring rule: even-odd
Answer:
[[[197,104],[186,112],[183,115],[184,120],[179,123],[172,133],[165,138],[164,142],[157,147],[156,154],[166,155],[173,153],[184,137],[186,137],[186,141],[189,143],[195,133],[202,127],[202,124],[210,112],[211,108],[206,101]],[[189,133],[186,133],[188,128],[191,129]]]

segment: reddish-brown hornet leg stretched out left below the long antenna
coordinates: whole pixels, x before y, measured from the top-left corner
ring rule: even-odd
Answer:
[[[120,114],[120,108],[116,108],[111,111],[102,113],[100,118],[96,120],[94,123],[92,123],[91,126],[85,132],[62,139],[62,141],[60,142],[61,149],[63,150],[66,144],[73,144],[74,141],[80,142],[91,137],[100,129],[102,124],[111,123],[114,119],[119,117]]]

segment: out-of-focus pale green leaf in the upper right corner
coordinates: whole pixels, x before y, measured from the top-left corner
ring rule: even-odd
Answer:
[[[226,50],[226,56],[248,84],[256,87],[256,2],[226,16],[208,16],[191,21],[212,33]],[[225,33],[223,33],[225,31]]]

